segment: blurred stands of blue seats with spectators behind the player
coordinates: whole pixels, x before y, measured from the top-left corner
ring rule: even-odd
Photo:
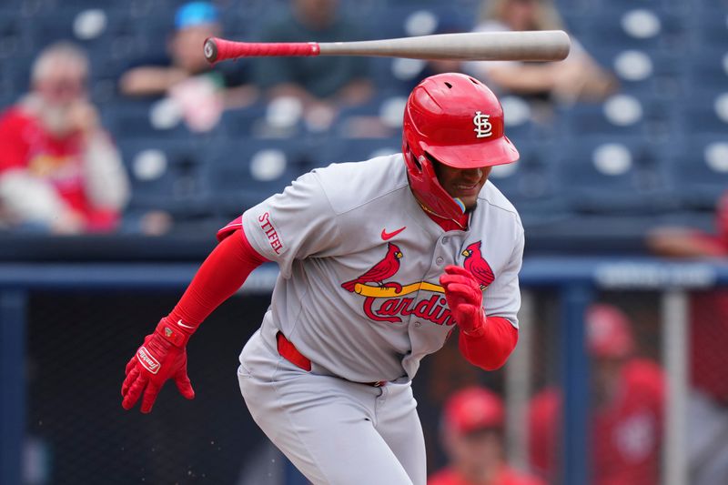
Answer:
[[[200,48],[208,35],[335,41],[555,28],[571,33],[573,48],[551,64],[209,66]],[[398,150],[410,88],[459,70],[501,96],[521,162],[492,177],[527,228],[612,237],[659,223],[707,228],[728,173],[725,31],[720,0],[8,0],[0,227],[216,227],[312,167]]]

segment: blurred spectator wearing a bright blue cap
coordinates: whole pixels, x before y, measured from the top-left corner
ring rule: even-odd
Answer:
[[[167,45],[168,57],[137,62],[119,80],[122,94],[169,96],[194,131],[216,126],[225,108],[250,105],[258,98],[258,89],[246,84],[243,64],[213,67],[203,55],[205,39],[221,32],[215,5],[191,2],[180,6]]]

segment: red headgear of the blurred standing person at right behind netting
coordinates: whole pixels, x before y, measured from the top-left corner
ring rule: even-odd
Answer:
[[[612,305],[592,305],[586,314],[589,353],[597,358],[624,359],[634,350],[629,318]]]

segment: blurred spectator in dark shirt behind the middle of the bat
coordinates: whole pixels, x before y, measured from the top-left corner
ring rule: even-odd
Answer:
[[[339,15],[339,0],[293,0],[291,13],[267,25],[261,42],[363,40],[359,28]],[[293,96],[308,121],[326,126],[337,106],[358,105],[372,94],[366,59],[352,56],[266,57],[256,60],[258,86],[268,96]]]

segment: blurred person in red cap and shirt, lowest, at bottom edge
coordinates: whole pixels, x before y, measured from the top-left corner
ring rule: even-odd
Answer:
[[[428,485],[542,485],[506,463],[504,419],[501,398],[490,390],[466,388],[448,399],[442,441],[450,466],[432,475]]]

